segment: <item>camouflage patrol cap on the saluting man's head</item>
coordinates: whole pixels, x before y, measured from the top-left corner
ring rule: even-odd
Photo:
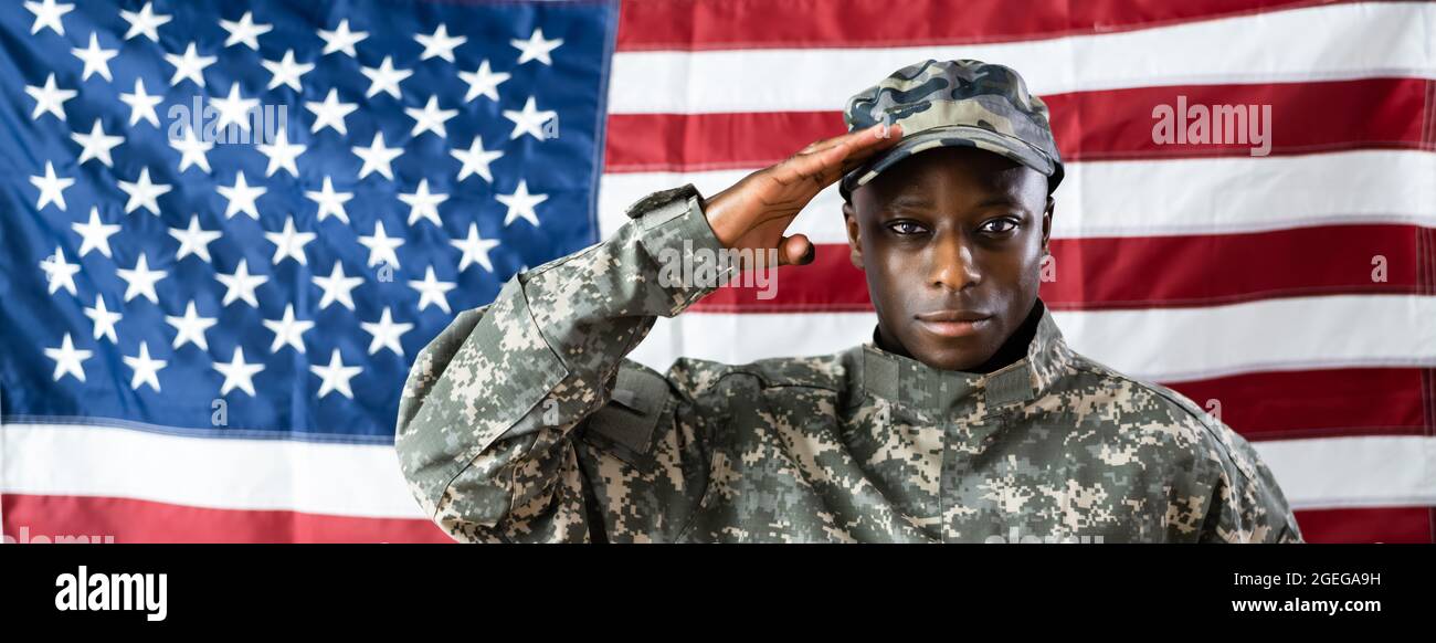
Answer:
[[[925,149],[969,146],[1001,154],[1047,177],[1047,191],[1063,179],[1063,161],[1047,122],[1047,103],[1028,93],[1014,69],[981,60],[925,60],[893,72],[847,99],[847,131],[900,123],[903,136],[887,152],[847,172],[843,200],[879,172]]]

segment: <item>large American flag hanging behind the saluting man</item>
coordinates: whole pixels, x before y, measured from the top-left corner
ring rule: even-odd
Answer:
[[[10,3],[4,532],[447,541],[391,442],[455,311],[645,194],[840,133],[895,69],[968,57],[1051,108],[1043,299],[1073,347],[1252,439],[1307,540],[1432,543],[1432,33],[1426,1]],[[195,96],[214,121],[287,106],[284,138],[172,135]],[[1269,106],[1269,154],[1160,141],[1179,103]],[[839,202],[790,228],[817,261],[775,299],[725,287],[630,356],[869,340]]]

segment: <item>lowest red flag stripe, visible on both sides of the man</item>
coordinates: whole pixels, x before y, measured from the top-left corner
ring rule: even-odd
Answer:
[[[429,521],[342,518],[290,511],[202,510],[128,498],[7,494],[4,535],[105,543],[454,543]],[[1297,511],[1307,543],[1432,543],[1432,510]]]

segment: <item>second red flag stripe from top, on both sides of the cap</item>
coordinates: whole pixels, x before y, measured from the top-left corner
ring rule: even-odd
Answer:
[[[1044,96],[1064,161],[1248,156],[1245,144],[1153,141],[1159,105],[1271,106],[1269,154],[1341,149],[1436,149],[1423,141],[1426,93],[1436,82],[1412,78],[1275,83],[1186,85]],[[841,96],[834,96],[837,105]],[[1190,121],[1188,121],[1190,122]],[[1265,121],[1264,121],[1265,122]],[[1248,125],[1249,126],[1249,125]],[[609,116],[606,172],[761,168],[811,141],[844,131],[840,112],[629,113]],[[761,136],[752,132],[763,132]],[[1231,141],[1242,141],[1234,138]]]

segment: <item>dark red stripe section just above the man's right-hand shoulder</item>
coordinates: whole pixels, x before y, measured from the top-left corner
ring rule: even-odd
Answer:
[[[1252,441],[1426,433],[1422,369],[1244,373],[1167,386]]]

